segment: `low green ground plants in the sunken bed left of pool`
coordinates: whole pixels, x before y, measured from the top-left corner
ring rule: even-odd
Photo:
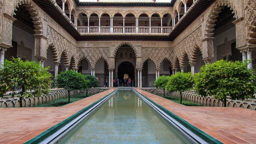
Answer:
[[[74,102],[74,101],[78,101],[78,100],[81,100],[83,98],[86,98],[87,96],[86,95],[73,95],[71,98],[70,98],[70,102]],[[50,101],[48,103],[45,103],[45,104],[37,104],[35,105],[34,107],[53,107],[53,106],[62,106],[62,105],[65,105],[65,104],[68,104],[68,98],[67,97],[64,97],[64,98],[60,98],[60,99],[56,99],[56,100],[53,100],[53,101]]]

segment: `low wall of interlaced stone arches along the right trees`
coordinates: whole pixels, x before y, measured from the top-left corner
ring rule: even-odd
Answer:
[[[157,89],[157,88],[143,88],[143,90],[156,94],[156,95],[162,95],[163,90]],[[165,91],[165,95],[171,95],[180,98],[179,92],[171,92],[169,93],[167,90]],[[185,91],[182,93],[182,98],[186,99],[191,102],[195,102],[204,106],[220,106],[222,107],[224,105],[224,102],[221,100],[212,98],[211,96],[201,96],[198,94],[195,94],[194,91]],[[248,98],[245,100],[231,100],[227,99],[227,106],[228,107],[242,107],[246,109],[256,110],[256,99],[255,98]]]

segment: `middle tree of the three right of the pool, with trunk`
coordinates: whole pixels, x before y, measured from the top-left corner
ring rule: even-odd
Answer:
[[[166,88],[169,92],[179,91],[182,103],[182,92],[192,88],[194,84],[194,78],[191,73],[178,72],[169,77]]]

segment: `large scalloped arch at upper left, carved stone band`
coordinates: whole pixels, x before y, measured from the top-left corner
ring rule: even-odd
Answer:
[[[33,2],[31,0],[18,0],[13,7],[12,15],[16,15],[15,11],[17,11],[16,8],[19,7],[19,5],[23,5],[26,8],[26,10],[28,10],[28,13],[31,15],[32,22],[34,23],[33,26],[35,27],[35,34],[43,34],[42,20],[39,16],[39,11],[37,10]]]

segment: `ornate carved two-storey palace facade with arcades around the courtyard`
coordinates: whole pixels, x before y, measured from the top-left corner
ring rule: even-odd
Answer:
[[[135,79],[193,74],[217,60],[253,59],[255,0],[0,0],[0,63],[20,57],[56,76],[76,70]]]

